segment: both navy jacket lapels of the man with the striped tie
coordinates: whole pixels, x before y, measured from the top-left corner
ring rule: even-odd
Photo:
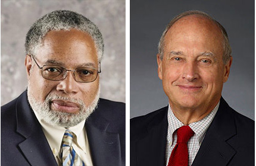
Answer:
[[[100,103],[100,102],[99,102]],[[121,148],[118,133],[108,131],[110,122],[97,108],[85,123],[93,165],[121,165]],[[51,148],[27,101],[27,91],[18,97],[16,104],[17,132],[24,136],[18,146],[31,165],[57,165]]]

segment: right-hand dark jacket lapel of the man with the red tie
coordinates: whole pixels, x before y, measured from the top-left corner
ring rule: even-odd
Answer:
[[[192,166],[227,165],[236,151],[227,141],[236,134],[235,120],[230,107],[221,98],[220,107],[214,117]]]

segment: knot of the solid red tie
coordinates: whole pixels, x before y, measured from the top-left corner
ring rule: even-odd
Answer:
[[[187,143],[194,132],[189,126],[182,126],[177,130],[177,143]]]

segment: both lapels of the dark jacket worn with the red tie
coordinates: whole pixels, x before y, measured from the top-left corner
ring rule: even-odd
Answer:
[[[165,165],[167,110],[161,108],[148,125],[148,133],[137,142],[138,165]],[[221,97],[216,116],[208,128],[204,141],[199,148],[192,166],[227,165],[236,151],[227,143],[236,135],[235,119],[232,108]]]

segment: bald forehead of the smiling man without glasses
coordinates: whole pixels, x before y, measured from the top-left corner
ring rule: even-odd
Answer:
[[[188,15],[177,20],[164,37],[164,54],[171,51],[212,52],[222,56],[223,35],[218,25],[205,17]]]

